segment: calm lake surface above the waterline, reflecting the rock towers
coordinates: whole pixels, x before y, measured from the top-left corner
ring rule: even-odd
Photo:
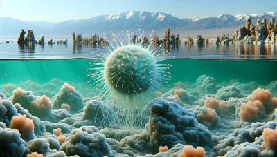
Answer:
[[[20,47],[17,43],[0,44],[1,59],[52,59],[53,58],[89,58],[91,52],[97,48],[91,45],[69,44],[45,44]],[[162,48],[162,47],[161,47]],[[263,44],[181,44],[171,46],[170,54],[177,58],[199,58],[199,59],[277,59],[276,45]]]

